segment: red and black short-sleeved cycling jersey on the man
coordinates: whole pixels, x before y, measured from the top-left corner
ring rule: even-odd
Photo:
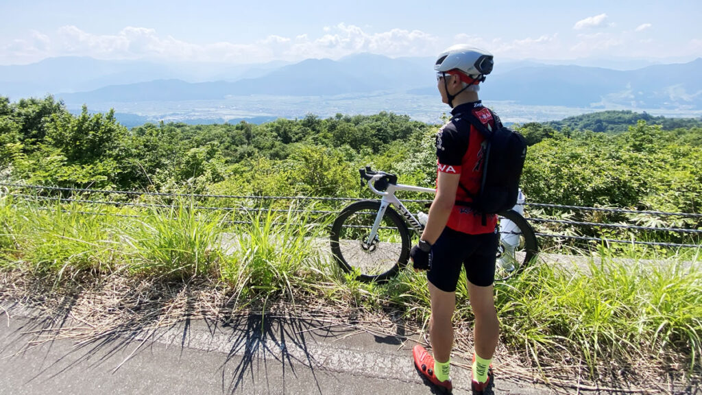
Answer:
[[[451,111],[451,119],[439,129],[436,139],[437,172],[461,174],[461,185],[472,195],[477,195],[482,179],[485,138],[470,124],[472,112],[484,125],[495,127],[490,111],[480,101],[457,105]],[[438,183],[438,177],[437,177]],[[438,188],[438,185],[437,185]],[[470,202],[471,197],[460,186],[456,190],[456,201]],[[497,225],[497,215],[475,212],[466,205],[453,205],[446,226],[463,233],[478,235],[492,233]]]

